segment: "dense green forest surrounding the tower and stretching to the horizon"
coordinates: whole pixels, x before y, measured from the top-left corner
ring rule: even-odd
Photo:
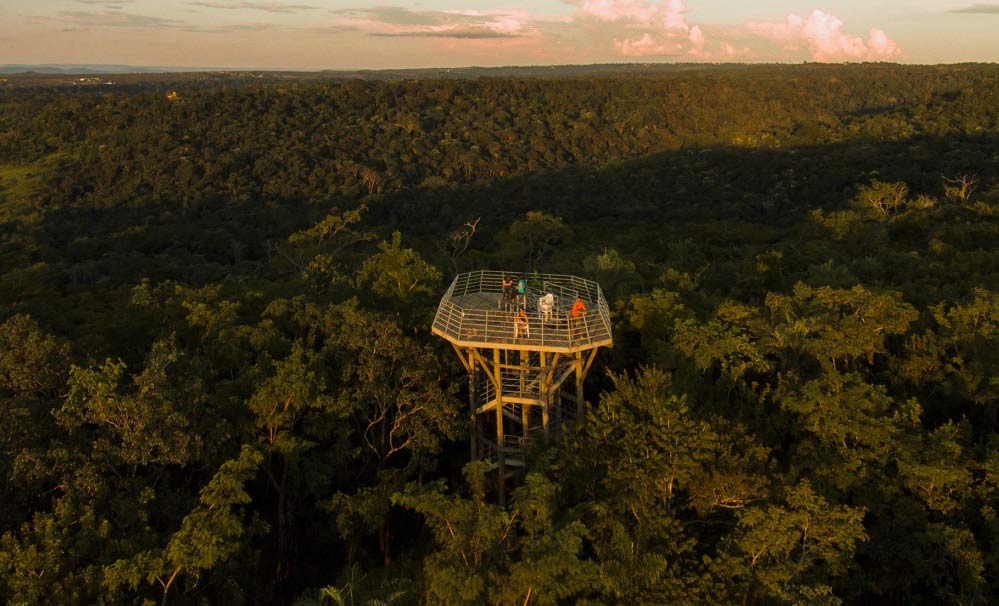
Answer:
[[[994,65],[0,89],[0,603],[997,603],[997,243]],[[506,507],[471,268],[612,302]]]

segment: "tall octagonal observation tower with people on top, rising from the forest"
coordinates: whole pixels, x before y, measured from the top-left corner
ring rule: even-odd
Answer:
[[[513,292],[505,276],[514,277]],[[501,501],[505,480],[524,466],[530,444],[555,437],[565,421],[582,416],[583,379],[597,350],[613,344],[596,282],[532,274],[519,294],[516,276],[459,274],[433,325],[468,370],[472,458],[498,470]]]

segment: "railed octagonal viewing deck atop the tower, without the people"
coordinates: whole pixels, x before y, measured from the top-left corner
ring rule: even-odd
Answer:
[[[526,296],[517,304],[505,304],[504,273],[483,270],[455,277],[437,307],[433,333],[465,347],[561,353],[613,344],[607,301],[596,282],[532,274],[526,278]],[[545,294],[555,297],[548,313],[539,308],[539,299]],[[586,305],[586,313],[573,320],[570,309],[577,296]],[[519,336],[514,326],[518,307],[527,312],[527,327]]]

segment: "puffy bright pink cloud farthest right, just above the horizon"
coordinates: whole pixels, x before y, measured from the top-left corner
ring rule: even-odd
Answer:
[[[871,28],[865,42],[844,33],[839,18],[820,10],[807,18],[792,14],[784,21],[749,22],[746,27],[784,50],[807,50],[815,61],[885,61],[903,56],[898,44],[883,30]]]

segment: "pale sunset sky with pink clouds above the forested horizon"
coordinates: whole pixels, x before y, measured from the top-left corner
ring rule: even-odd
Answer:
[[[0,64],[999,61],[999,0],[815,2],[0,0]]]

